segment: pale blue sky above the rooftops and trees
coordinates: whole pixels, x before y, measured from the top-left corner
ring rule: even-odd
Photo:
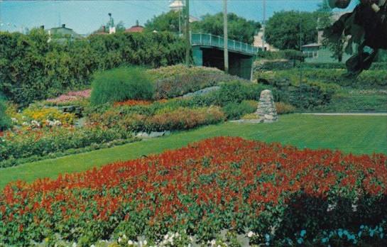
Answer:
[[[323,0],[266,0],[266,19],[276,11],[315,11]],[[249,20],[263,20],[263,0],[228,0],[228,11]],[[124,26],[140,25],[160,13],[168,12],[170,0],[120,1],[6,1],[0,0],[0,31],[21,31],[44,25],[45,28],[65,24],[80,34],[97,30],[109,21]],[[200,17],[222,11],[222,0],[190,0],[190,14]],[[354,3],[349,6],[353,9]]]

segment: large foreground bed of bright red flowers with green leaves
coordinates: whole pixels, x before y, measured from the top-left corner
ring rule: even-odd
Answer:
[[[13,182],[0,194],[0,243],[60,235],[89,246],[122,233],[157,241],[168,232],[207,242],[229,229],[251,231],[254,244],[323,236],[327,246],[343,236],[337,229],[351,239],[361,225],[383,230],[386,195],[386,155],[218,137],[56,180]],[[386,246],[381,232],[364,241]]]

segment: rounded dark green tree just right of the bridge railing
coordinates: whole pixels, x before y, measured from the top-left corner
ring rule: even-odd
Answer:
[[[280,50],[300,50],[301,45],[317,41],[317,18],[315,13],[280,11],[266,23],[266,41]]]

